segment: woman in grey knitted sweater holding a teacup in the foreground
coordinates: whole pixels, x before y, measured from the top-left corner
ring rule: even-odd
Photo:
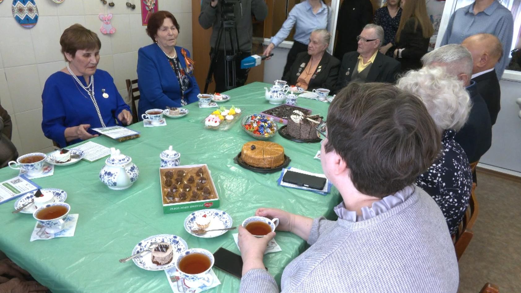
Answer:
[[[282,292],[456,292],[458,266],[445,219],[414,185],[441,141],[418,97],[391,84],[350,83],[317,130],[326,137],[322,169],[343,199],[334,208],[337,221],[256,211],[279,218],[277,230],[311,245],[284,269]],[[256,238],[239,226],[240,292],[279,292],[263,264],[274,236]]]

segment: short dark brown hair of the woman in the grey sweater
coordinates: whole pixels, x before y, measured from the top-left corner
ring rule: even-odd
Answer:
[[[437,158],[441,133],[424,104],[387,83],[350,83],[327,116],[326,152],[350,168],[355,188],[383,198],[413,184]]]

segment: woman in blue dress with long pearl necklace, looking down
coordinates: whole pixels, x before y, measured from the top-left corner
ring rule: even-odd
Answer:
[[[69,63],[45,81],[42,130],[60,147],[97,136],[91,128],[132,123],[130,107],[107,71],[97,69],[101,42],[81,25],[67,28],[60,38]]]

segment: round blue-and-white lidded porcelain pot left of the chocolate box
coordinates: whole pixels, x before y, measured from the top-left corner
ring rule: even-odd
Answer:
[[[105,160],[105,166],[100,171],[100,180],[110,189],[126,189],[138,180],[139,169],[132,158],[122,154],[115,148],[110,148],[110,157]]]

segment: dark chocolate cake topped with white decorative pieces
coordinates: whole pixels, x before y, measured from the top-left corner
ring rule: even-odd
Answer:
[[[288,119],[286,133],[296,139],[318,139],[318,124],[322,122],[319,115],[306,115],[300,111],[294,111],[291,118]]]

